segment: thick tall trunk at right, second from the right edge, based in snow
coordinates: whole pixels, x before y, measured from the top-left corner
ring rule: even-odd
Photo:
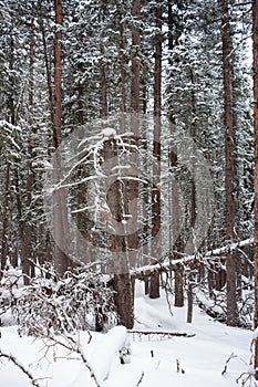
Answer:
[[[228,0],[221,0],[221,34],[223,34],[223,74],[224,74],[224,125],[226,151],[226,237],[228,242],[234,240],[235,199],[234,199],[234,125],[233,125],[233,85],[231,85],[231,38],[229,27]],[[235,254],[228,253],[227,270],[227,324],[238,324],[236,262]]]

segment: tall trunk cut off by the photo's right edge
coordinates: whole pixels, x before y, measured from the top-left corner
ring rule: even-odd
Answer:
[[[258,1],[252,2],[254,132],[255,132],[255,315],[258,328]],[[258,380],[258,334],[255,335],[255,377]]]

